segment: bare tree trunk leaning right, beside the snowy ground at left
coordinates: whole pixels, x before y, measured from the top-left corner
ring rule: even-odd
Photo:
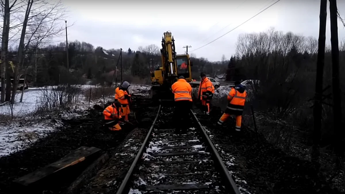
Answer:
[[[13,75],[13,88],[12,88],[12,97],[11,97],[11,104],[14,104],[14,98],[16,97],[16,91],[17,91],[17,85],[18,85],[18,71],[19,71],[19,64],[23,63],[24,60],[24,39],[25,39],[25,33],[26,33],[26,26],[28,24],[28,18],[30,15],[31,7],[32,7],[33,0],[28,1],[28,6],[26,8],[24,22],[23,22],[23,28],[20,35],[20,41],[18,46],[18,54],[17,54],[17,61],[18,65],[16,66],[14,70]]]

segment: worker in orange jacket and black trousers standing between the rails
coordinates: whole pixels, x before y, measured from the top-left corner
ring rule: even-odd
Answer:
[[[175,100],[175,132],[179,133],[182,129],[182,132],[187,131],[186,124],[189,120],[189,113],[192,107],[192,87],[185,80],[185,77],[180,76],[179,79],[172,84],[171,91],[174,93]]]

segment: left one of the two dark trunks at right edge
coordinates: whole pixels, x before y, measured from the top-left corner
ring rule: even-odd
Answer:
[[[320,3],[320,29],[319,45],[316,65],[316,83],[315,83],[315,100],[314,100],[314,132],[312,161],[318,163],[320,158],[320,140],[322,125],[322,93],[323,93],[323,70],[325,65],[325,44],[326,44],[326,19],[327,19],[327,0],[321,0]]]

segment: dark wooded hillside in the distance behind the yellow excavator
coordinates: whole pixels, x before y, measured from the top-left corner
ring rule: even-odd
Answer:
[[[120,49],[106,51],[114,55],[114,58],[106,58],[100,46],[95,48],[87,42],[71,41],[68,43],[69,70],[67,70],[66,42],[60,42],[57,45],[28,51],[25,69],[30,75],[29,80],[36,85],[85,83],[90,80],[93,83],[109,82],[116,65],[118,77],[122,67],[124,79],[149,83],[150,70],[161,66],[160,48],[156,45],[141,46],[136,51],[131,48],[122,51]],[[122,57],[118,62],[120,52],[122,52]],[[217,73],[224,73],[227,69],[224,61],[211,62],[203,57],[191,57],[191,60],[194,63],[192,75],[196,79],[201,71],[214,76]]]

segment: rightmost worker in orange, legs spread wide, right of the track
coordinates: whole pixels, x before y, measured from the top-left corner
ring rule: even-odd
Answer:
[[[230,90],[227,96],[229,104],[226,107],[224,114],[218,120],[218,125],[223,125],[223,123],[231,115],[235,115],[236,116],[235,130],[237,132],[241,131],[242,113],[243,113],[243,108],[246,101],[246,96],[247,96],[247,92],[245,88],[240,84],[239,81],[236,81],[235,87],[233,87]]]

